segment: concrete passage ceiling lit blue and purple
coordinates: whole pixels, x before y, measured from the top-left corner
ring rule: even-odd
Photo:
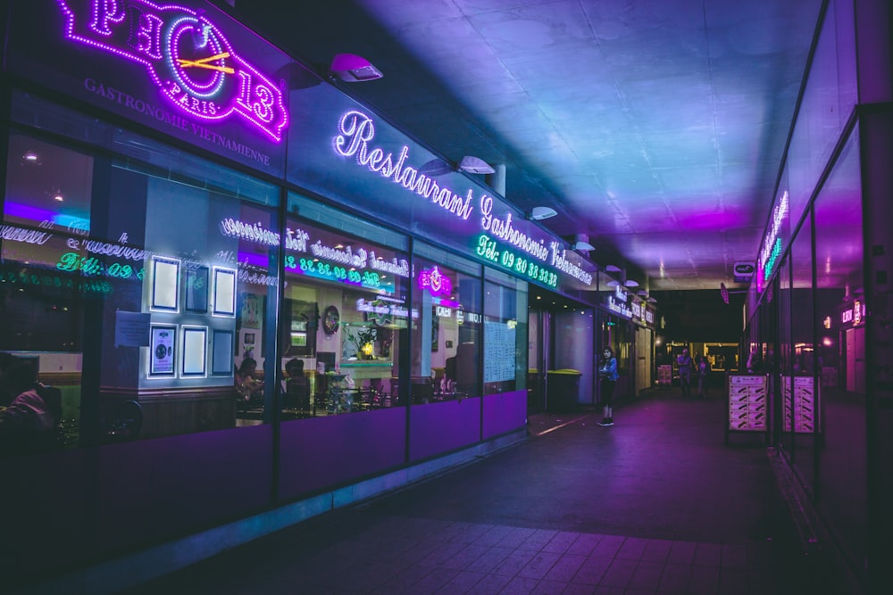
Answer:
[[[345,84],[649,291],[732,284],[759,249],[820,0],[245,0],[297,57],[360,54]]]

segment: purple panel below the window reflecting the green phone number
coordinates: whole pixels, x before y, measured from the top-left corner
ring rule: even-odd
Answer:
[[[291,500],[402,465],[405,435],[402,407],[282,424],[280,499]]]

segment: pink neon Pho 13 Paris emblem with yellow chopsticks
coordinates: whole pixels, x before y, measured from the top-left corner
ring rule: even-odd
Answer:
[[[202,120],[236,114],[280,142],[282,91],[238,56],[203,12],[146,0],[56,0],[65,36],[146,66],[162,94]]]

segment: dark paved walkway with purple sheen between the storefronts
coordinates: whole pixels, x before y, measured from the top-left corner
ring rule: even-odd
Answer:
[[[805,556],[764,444],[725,445],[724,406],[674,390],[613,427],[533,416],[527,442],[129,595],[844,592]]]

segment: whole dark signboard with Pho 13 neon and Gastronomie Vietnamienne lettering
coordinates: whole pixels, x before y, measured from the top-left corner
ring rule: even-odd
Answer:
[[[288,88],[276,73],[292,61],[213,5],[27,0],[13,2],[13,22],[9,68],[22,77],[252,168],[283,171]]]

